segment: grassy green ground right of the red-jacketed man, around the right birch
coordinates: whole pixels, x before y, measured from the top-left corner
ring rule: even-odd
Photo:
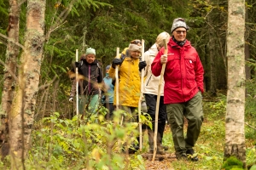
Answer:
[[[250,99],[249,105],[254,105],[255,100]],[[198,153],[199,161],[172,161],[172,167],[175,170],[216,170],[216,169],[228,169],[223,167],[224,164],[224,144],[225,144],[225,107],[226,97],[220,95],[214,102],[203,102],[204,110],[204,122],[201,127],[201,135],[195,145],[195,151]],[[251,115],[246,112],[247,124],[253,124],[255,122],[256,107],[250,108]],[[255,127],[255,126],[254,126]],[[253,169],[253,165],[256,165],[256,150],[255,150],[255,129],[253,127],[245,127],[246,146],[247,146],[247,169]],[[171,147],[172,152],[172,133],[167,130],[164,137],[164,142]],[[242,169],[241,167],[232,167],[232,170]]]

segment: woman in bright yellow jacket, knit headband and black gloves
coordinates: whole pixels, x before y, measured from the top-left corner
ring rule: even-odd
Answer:
[[[125,118],[125,122],[137,122],[135,110],[141,91],[140,71],[146,66],[146,62],[140,62],[141,53],[141,41],[131,41],[129,47],[122,52],[125,58],[120,58],[120,54],[120,59],[113,59],[109,70],[109,76],[114,78],[115,66],[119,65],[119,109],[132,114],[133,117],[133,120]],[[114,87],[114,94],[116,94],[116,87]],[[116,105],[116,96],[114,96],[113,105]]]

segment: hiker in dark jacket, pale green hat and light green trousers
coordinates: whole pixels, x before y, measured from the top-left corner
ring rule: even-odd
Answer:
[[[79,113],[84,114],[84,111],[88,111],[90,114],[95,114],[99,105],[100,87],[103,80],[102,69],[96,59],[96,50],[87,48],[86,53],[81,56],[79,62],[75,63],[75,66],[79,70]],[[73,80],[69,101],[73,102],[74,94],[76,94],[75,88],[76,81]]]

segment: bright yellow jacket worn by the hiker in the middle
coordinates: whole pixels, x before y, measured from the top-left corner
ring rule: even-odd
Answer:
[[[125,48],[122,54],[126,52]],[[120,58],[121,54],[119,54]],[[119,66],[119,105],[138,107],[141,90],[141,77],[139,72],[139,59],[125,56],[123,63]],[[109,77],[115,77],[115,69],[111,66]],[[116,105],[116,86],[114,86],[113,105]]]

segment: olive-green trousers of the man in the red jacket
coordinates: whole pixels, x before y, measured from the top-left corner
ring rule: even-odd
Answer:
[[[179,157],[183,153],[186,153],[186,150],[190,150],[194,147],[200,135],[201,124],[203,122],[201,92],[195,94],[195,96],[187,102],[169,104],[166,105],[166,107],[176,156]],[[188,120],[186,136],[183,134],[184,116]]]

